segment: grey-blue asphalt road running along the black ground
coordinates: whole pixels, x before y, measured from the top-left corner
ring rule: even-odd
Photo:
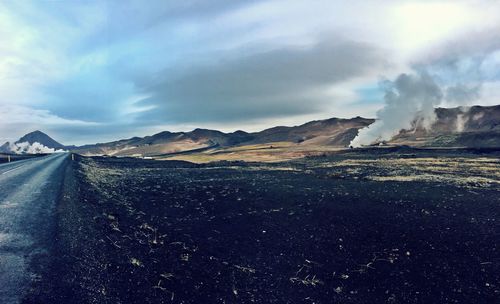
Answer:
[[[68,154],[0,165],[0,303],[20,303],[50,261]]]

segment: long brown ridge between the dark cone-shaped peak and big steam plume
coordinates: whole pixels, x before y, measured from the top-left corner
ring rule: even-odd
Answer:
[[[143,138],[133,137],[109,143],[86,145],[72,149],[72,151],[84,155],[160,156],[273,142],[346,147],[360,128],[370,125],[373,121],[373,119],[361,117],[332,118],[295,127],[274,127],[254,133],[244,131],[224,133],[207,129],[176,133],[165,131]]]

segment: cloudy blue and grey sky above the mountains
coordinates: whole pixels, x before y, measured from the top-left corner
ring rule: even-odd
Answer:
[[[425,73],[499,104],[500,1],[0,0],[0,143],[375,117]],[[410,101],[411,102],[411,101]]]

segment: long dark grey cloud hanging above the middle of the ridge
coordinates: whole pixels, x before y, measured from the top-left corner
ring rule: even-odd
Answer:
[[[184,71],[165,70],[137,85],[155,106],[148,123],[228,122],[319,112],[332,100],[330,85],[386,64],[368,44],[329,39],[309,48],[277,49]]]

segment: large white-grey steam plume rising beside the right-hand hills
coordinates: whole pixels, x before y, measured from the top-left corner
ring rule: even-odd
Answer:
[[[429,128],[434,122],[434,107],[443,100],[443,92],[430,75],[401,74],[384,85],[384,108],[377,112],[373,124],[359,131],[351,146],[389,140],[401,129],[410,129],[415,121],[423,128]]]

